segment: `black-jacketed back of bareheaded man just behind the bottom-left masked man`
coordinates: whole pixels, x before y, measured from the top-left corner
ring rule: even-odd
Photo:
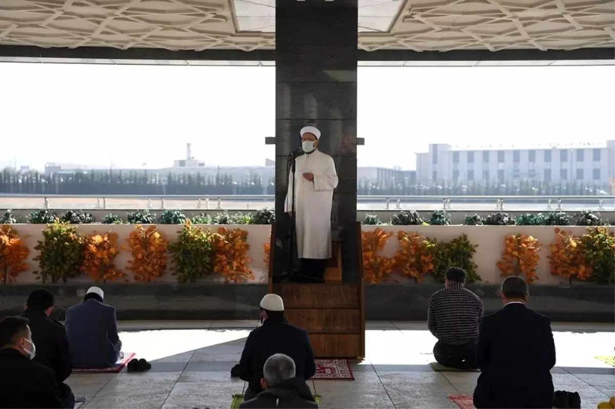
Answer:
[[[48,317],[43,311],[28,309],[22,316],[30,321],[32,341],[36,345],[34,360],[52,368],[58,381],[65,381],[71,375],[73,365],[63,325]]]

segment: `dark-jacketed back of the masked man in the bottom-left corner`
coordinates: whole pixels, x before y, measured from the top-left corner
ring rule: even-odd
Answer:
[[[15,349],[0,349],[0,407],[60,409],[62,399],[54,371]]]

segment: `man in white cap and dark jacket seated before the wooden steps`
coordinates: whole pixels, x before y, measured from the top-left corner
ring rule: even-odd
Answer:
[[[260,306],[263,325],[250,332],[239,360],[239,378],[248,382],[245,400],[263,392],[263,366],[274,354],[285,354],[295,362],[297,378],[305,381],[316,373],[308,333],[288,324],[284,318],[282,298],[276,294],[266,294]]]

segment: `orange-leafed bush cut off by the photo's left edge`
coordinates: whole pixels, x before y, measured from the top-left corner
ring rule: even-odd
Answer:
[[[19,273],[28,270],[26,258],[30,250],[10,225],[0,227],[0,278],[4,284],[14,282]]]

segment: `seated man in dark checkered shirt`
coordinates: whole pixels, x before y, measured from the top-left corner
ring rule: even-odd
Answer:
[[[483,302],[466,288],[466,271],[453,267],[446,271],[445,288],[429,300],[427,327],[438,338],[434,357],[440,365],[475,369],[478,328]]]

